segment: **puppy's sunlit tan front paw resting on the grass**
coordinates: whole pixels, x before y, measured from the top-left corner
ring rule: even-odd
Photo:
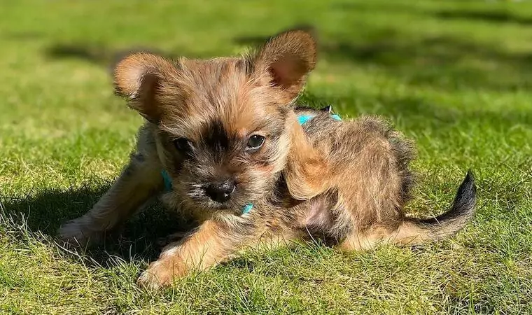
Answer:
[[[148,289],[158,289],[170,286],[174,279],[187,274],[186,266],[183,263],[167,262],[157,260],[148,265],[148,269],[142,272],[137,280],[137,284]]]

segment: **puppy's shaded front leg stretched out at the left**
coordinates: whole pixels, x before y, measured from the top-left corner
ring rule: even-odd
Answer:
[[[59,229],[59,237],[71,244],[99,241],[105,232],[130,218],[150,197],[162,190],[160,164],[150,155],[132,155],[130,164],[97,204],[85,215]]]

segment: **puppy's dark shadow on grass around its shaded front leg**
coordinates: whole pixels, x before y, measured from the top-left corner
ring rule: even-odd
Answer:
[[[109,186],[85,186],[69,190],[45,190],[23,198],[0,197],[3,211],[16,226],[27,225],[31,232],[40,232],[57,241],[57,229],[73,218],[85,214],[99,200]],[[158,202],[144,209],[123,226],[106,235],[102,244],[78,248],[99,265],[109,265],[111,256],[125,261],[153,260],[160,253],[158,239],[190,230],[190,222],[177,214],[165,211]],[[23,232],[23,228],[20,229]]]

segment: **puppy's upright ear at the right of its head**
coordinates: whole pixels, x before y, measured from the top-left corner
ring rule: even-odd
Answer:
[[[258,50],[253,72],[262,84],[279,89],[288,103],[297,97],[315,65],[314,35],[309,29],[295,29],[273,36]]]

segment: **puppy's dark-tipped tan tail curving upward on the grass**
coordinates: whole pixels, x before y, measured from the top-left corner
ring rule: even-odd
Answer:
[[[417,245],[444,239],[461,230],[475,212],[477,188],[471,171],[465,176],[451,209],[435,218],[405,218],[393,240],[399,245]]]

